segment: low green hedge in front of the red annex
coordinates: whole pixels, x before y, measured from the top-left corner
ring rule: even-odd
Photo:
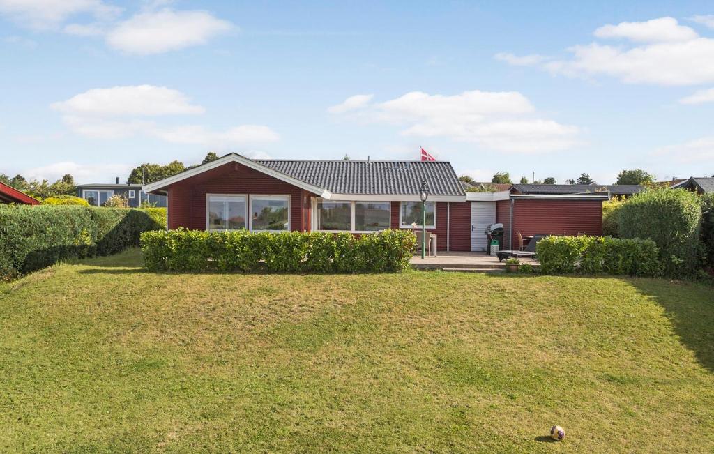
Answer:
[[[655,242],[640,238],[548,236],[535,251],[545,274],[658,276],[662,270]]]

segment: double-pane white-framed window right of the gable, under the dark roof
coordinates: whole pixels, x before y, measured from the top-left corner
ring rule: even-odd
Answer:
[[[323,231],[376,232],[389,228],[390,202],[317,199],[315,228]]]

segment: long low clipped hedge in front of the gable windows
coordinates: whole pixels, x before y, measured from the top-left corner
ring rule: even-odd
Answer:
[[[151,271],[268,271],[368,273],[409,266],[416,237],[411,231],[351,233],[188,230],[141,233],[144,263]]]

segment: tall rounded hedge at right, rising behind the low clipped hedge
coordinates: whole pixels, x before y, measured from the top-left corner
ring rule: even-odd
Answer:
[[[650,238],[667,276],[687,276],[698,266],[700,201],[683,189],[653,188],[628,199],[618,210],[620,238]]]

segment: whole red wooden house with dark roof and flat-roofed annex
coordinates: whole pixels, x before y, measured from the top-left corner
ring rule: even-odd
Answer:
[[[236,153],[146,184],[144,191],[168,198],[172,229],[359,234],[421,226],[422,182],[429,193],[426,228],[436,233],[441,251],[485,250],[484,231],[496,222],[508,226],[509,240],[513,228],[523,235],[599,235],[608,198],[467,193],[442,161],[251,160]]]

